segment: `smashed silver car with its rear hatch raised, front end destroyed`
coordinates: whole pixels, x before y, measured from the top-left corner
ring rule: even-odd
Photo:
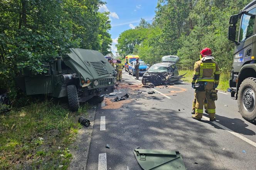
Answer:
[[[152,65],[142,77],[142,84],[172,85],[185,75],[179,75],[176,63],[179,57],[168,55],[162,57],[162,62]]]

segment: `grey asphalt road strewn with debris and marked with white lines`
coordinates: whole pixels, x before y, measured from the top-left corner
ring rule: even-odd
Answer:
[[[179,151],[188,170],[256,170],[256,125],[241,117],[228,93],[218,93],[216,122],[207,114],[199,122],[191,118],[190,84],[141,88],[126,72],[123,80],[116,96],[129,99],[107,96],[96,111],[87,170],[140,170],[138,147]]]

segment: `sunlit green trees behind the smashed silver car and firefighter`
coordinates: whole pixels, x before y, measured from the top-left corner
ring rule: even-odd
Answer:
[[[232,65],[234,49],[234,43],[227,40],[229,17],[239,13],[249,2],[250,0],[158,0],[153,23],[139,33],[141,24],[133,30],[121,33],[118,52],[121,55],[140,55],[150,64],[159,62],[163,55],[178,55],[181,58],[179,66],[191,69],[199,59],[200,50],[209,47],[221,69],[227,71]],[[145,23],[145,20],[141,22]],[[125,50],[123,47],[128,47],[128,41],[121,41],[124,35],[138,35],[142,41],[136,43],[131,50]],[[133,39],[138,37],[133,36]]]

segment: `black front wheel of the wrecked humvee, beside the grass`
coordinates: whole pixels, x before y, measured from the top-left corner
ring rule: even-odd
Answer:
[[[79,100],[75,85],[67,86],[67,99],[69,101],[70,110],[76,112],[79,109]]]

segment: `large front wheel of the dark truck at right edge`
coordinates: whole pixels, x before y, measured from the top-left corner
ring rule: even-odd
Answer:
[[[241,83],[237,103],[243,118],[256,123],[256,78],[249,77]]]

